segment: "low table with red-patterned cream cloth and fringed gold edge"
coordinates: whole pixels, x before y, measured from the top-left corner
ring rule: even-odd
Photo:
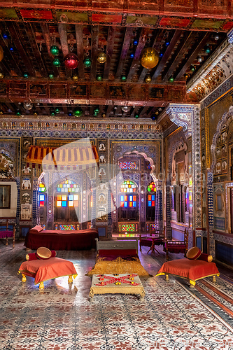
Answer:
[[[90,297],[94,294],[122,293],[145,296],[138,274],[93,274]]]

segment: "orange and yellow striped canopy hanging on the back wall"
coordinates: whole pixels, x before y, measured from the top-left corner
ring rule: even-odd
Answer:
[[[62,146],[59,148],[30,146],[27,153],[27,167],[43,170],[85,169],[99,163],[96,146]]]

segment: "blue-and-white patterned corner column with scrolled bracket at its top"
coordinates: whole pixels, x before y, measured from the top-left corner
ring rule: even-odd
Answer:
[[[193,223],[189,230],[189,247],[195,246],[195,232],[202,228],[202,167],[199,104],[169,104],[167,114],[171,121],[183,127],[185,137],[192,137],[192,204]]]

